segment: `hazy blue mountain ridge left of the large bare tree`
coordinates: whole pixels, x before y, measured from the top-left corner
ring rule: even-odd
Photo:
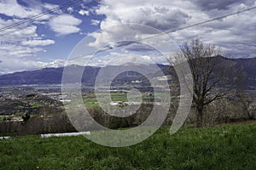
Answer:
[[[102,81],[111,81],[110,77],[115,77],[113,82],[131,82],[141,78],[143,75],[139,74],[133,70],[139,68],[140,71],[145,73],[154,73],[159,71],[159,69],[167,68],[167,65],[158,65],[158,70],[152,65],[137,65],[132,63],[127,63],[125,65],[108,65],[104,68],[93,67],[93,66],[79,66],[70,65],[65,68],[67,79],[65,82],[83,82],[86,85],[93,85],[96,81],[96,77],[99,71],[108,72],[107,77],[102,77]],[[123,70],[126,70],[125,72]],[[0,76],[0,86],[9,85],[33,85],[33,84],[60,84],[62,80],[62,73],[64,67],[59,68],[44,68],[38,71],[22,71],[15,72],[8,75]],[[82,78],[77,80],[81,72],[83,72]],[[120,73],[116,75],[116,73]],[[117,76],[117,77],[116,77]]]

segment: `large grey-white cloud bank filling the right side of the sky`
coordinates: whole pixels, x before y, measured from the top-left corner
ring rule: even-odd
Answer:
[[[157,2],[154,0],[102,0],[100,6],[96,8],[96,14],[104,14],[106,19],[100,23],[102,32],[90,34],[95,38],[95,42],[91,42],[90,47],[101,47],[109,42],[135,40],[138,37],[150,35],[147,30],[124,29],[118,26],[119,24],[137,23],[153,26],[161,31],[175,30],[222,14],[229,14],[241,8],[249,8],[255,4],[254,0],[236,2],[211,0],[209,3],[202,0],[159,0]],[[256,53],[255,23],[256,16],[253,11],[247,11],[169,35],[177,44],[199,37],[203,42],[219,44],[233,57],[249,57]],[[111,30],[109,26],[112,26]]]

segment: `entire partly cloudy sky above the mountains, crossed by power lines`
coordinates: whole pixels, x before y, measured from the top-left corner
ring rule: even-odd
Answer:
[[[90,52],[116,47],[122,41],[128,45],[99,54],[90,60],[90,65],[135,59],[164,63],[158,53],[158,48],[163,49],[162,42],[170,42],[164,37],[154,41],[154,48],[129,42],[256,5],[253,0],[77,0],[45,14],[69,2],[0,0],[0,74],[62,66],[70,56],[86,58]],[[38,17],[29,20],[33,16]],[[255,30],[256,9],[253,9],[168,36],[177,46],[199,38],[201,42],[218,44],[230,57],[251,58],[256,57]],[[74,64],[81,62],[78,59]]]

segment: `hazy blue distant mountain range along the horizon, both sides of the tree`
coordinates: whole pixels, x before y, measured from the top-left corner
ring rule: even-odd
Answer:
[[[218,59],[225,59],[218,56]],[[244,86],[246,88],[256,87],[256,58],[251,59],[230,59],[236,62],[237,67],[243,68],[246,73]],[[137,73],[135,68],[140,68],[141,71],[147,73],[147,75],[142,75]],[[102,70],[103,69],[103,70]],[[8,75],[0,76],[0,86],[9,85],[32,85],[32,84],[60,84],[62,79],[62,73],[64,68],[44,68],[38,71],[22,71],[15,72]],[[75,80],[75,76],[78,76],[84,70],[84,74],[81,75],[79,80]],[[132,64],[127,63],[125,65],[108,65],[107,67],[93,67],[93,66],[79,66],[70,65],[66,67],[67,80],[66,82],[78,82],[81,80],[86,85],[94,85],[96,77],[99,71],[108,72],[108,76],[102,77],[102,81],[112,81],[116,84],[121,84],[124,82],[132,82],[136,80],[145,80],[146,77],[161,77],[162,73],[165,75],[172,74],[174,68],[168,65],[158,65],[154,67],[153,65],[142,65],[142,64]],[[124,72],[124,70],[126,70]],[[116,75],[116,73],[120,73]],[[146,76],[146,77],[144,77]],[[110,77],[115,77],[111,80]]]

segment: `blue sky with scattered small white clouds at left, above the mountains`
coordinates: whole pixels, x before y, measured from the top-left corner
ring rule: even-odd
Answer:
[[[71,1],[0,1],[0,29]],[[104,14],[95,14],[98,3],[79,1],[32,22],[1,31],[0,71],[30,70],[67,59],[88,33],[100,28]]]

